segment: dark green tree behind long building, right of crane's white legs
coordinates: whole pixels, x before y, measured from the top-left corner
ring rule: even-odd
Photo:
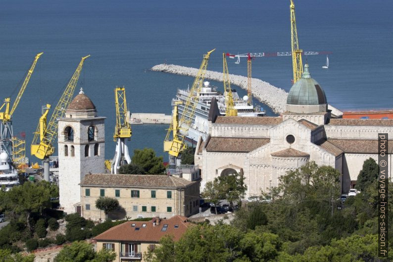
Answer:
[[[151,148],[134,150],[131,162],[141,166],[146,174],[161,174],[165,171],[162,157],[156,157]]]

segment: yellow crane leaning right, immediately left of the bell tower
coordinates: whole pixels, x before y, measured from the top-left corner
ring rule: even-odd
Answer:
[[[70,81],[67,84],[67,87],[64,90],[59,102],[53,110],[52,116],[50,117],[49,123],[47,124],[47,116],[50,105],[47,105],[45,108],[46,111],[40,118],[40,122],[37,126],[36,132],[34,133],[34,138],[31,143],[31,155],[38,157],[43,160],[48,160],[49,156],[51,156],[55,148],[53,146],[53,142],[57,137],[57,119],[64,117],[65,110],[68,105],[71,103],[72,97],[74,96],[75,87],[78,83],[79,75],[82,71],[83,63],[86,58],[90,56],[84,56],[81,58],[81,61],[76,68],[74,74],[72,75]],[[46,179],[46,170],[44,170],[44,178]],[[49,176],[49,170],[48,170]],[[49,177],[48,177],[49,179]]]

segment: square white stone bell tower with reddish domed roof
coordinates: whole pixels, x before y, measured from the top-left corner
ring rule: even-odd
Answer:
[[[74,213],[81,199],[80,182],[87,173],[104,172],[106,117],[83,89],[58,119],[59,195],[64,212]]]

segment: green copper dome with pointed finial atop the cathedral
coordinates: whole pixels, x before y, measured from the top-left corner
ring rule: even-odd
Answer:
[[[304,65],[303,75],[289,91],[287,104],[323,105],[327,104],[326,95],[318,82],[311,78],[308,64]]]

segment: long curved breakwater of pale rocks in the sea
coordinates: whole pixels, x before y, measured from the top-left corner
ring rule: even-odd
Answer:
[[[151,68],[152,71],[159,71],[177,75],[186,75],[195,77],[198,73],[198,68],[180,66],[175,64],[157,64]],[[247,90],[247,77],[241,75],[229,75],[231,84],[239,86]],[[210,79],[222,82],[222,72],[215,72],[207,70],[205,79]],[[265,81],[257,78],[252,78],[252,95],[258,101],[268,105],[275,113],[282,113],[285,111],[285,104],[287,103],[288,93],[281,88],[275,87]]]

